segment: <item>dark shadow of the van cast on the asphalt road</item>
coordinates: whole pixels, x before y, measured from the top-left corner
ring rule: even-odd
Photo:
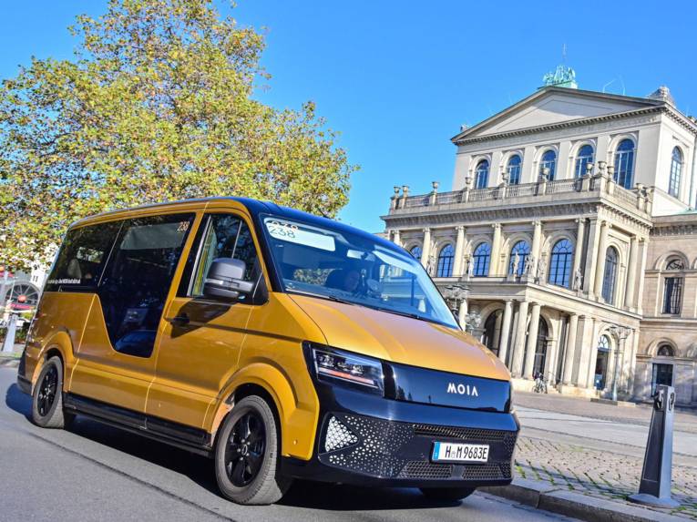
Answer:
[[[12,384],[5,394],[5,404],[11,410],[31,418],[31,397]],[[200,455],[165,445],[140,435],[108,425],[102,425],[78,415],[68,432],[87,438],[150,464],[168,468],[192,482],[221,496],[213,471],[213,461]],[[50,437],[42,437],[50,442]],[[305,507],[332,511],[364,511],[384,509],[415,509],[453,507],[459,502],[438,502],[422,496],[416,489],[335,486],[312,481],[296,481],[280,502],[287,507]]]

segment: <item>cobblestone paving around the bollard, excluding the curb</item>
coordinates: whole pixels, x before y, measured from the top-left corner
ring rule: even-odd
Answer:
[[[517,476],[609,500],[626,501],[627,496],[637,493],[644,443],[641,447],[628,445],[627,439],[617,440],[616,434],[618,429],[624,432],[622,426],[626,425],[628,438],[636,442],[638,437],[630,437],[629,432],[636,434],[640,429],[633,426],[649,425],[651,407],[613,406],[552,394],[516,394],[516,405],[522,410],[519,416],[523,425],[516,452]],[[558,424],[547,426],[547,430],[536,429],[534,421],[549,417],[544,412],[559,414],[550,417]],[[569,436],[575,433],[567,424],[569,415],[587,417],[595,431]],[[608,421],[607,427],[599,428],[603,423],[590,419]],[[688,434],[697,434],[697,415],[677,413],[675,430],[674,435],[682,437],[683,443],[689,440],[693,435]],[[644,436],[639,437],[641,441]],[[672,497],[681,503],[680,507],[657,510],[697,520],[697,459],[693,451],[673,455]]]

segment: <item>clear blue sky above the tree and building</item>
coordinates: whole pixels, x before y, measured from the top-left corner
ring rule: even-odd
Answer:
[[[30,56],[70,57],[67,26],[104,5],[5,3],[0,77]],[[683,112],[697,113],[693,2],[239,0],[232,15],[266,27],[262,64],[272,79],[257,97],[275,107],[313,100],[341,132],[361,170],[340,218],[369,231],[383,230],[394,185],[425,193],[439,180],[450,189],[449,138],[534,92],[563,44],[579,87],[611,82],[608,92],[645,96],[665,84]]]

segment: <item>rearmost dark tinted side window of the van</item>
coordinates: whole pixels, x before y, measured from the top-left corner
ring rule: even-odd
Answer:
[[[46,280],[47,292],[94,292],[120,221],[69,230]]]

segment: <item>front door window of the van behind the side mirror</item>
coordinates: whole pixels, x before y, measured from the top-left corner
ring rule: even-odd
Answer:
[[[199,258],[193,265],[193,278],[186,295],[191,297],[203,295],[203,283],[210,263],[220,258],[244,261],[246,265],[244,280],[259,280],[261,267],[247,223],[231,214],[214,214],[209,216],[208,220],[204,220],[201,226],[203,232],[200,234]],[[194,246],[191,249],[191,255],[195,255],[196,250]]]

